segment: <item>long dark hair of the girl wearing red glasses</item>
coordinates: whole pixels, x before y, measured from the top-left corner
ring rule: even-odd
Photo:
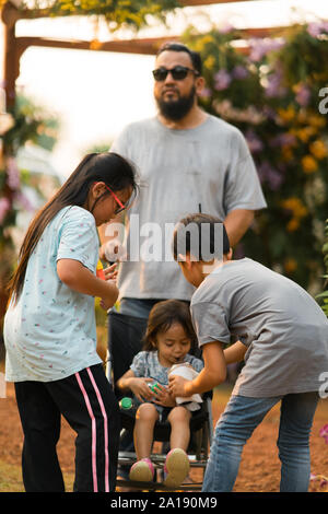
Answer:
[[[114,191],[120,191],[127,187],[131,187],[133,194],[138,191],[134,167],[121,155],[114,152],[85,155],[61,188],[32,220],[20,249],[17,268],[7,287],[10,297],[19,299],[23,289],[28,258],[47,224],[65,207],[83,207],[94,182],[104,182]],[[106,191],[105,195],[110,195],[110,192]],[[102,197],[98,197],[96,201]]]

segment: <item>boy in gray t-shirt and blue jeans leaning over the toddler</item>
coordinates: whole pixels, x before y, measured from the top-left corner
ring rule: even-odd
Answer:
[[[186,231],[190,223],[199,229],[197,252]],[[175,230],[174,257],[197,288],[190,309],[204,369],[188,384],[173,377],[171,392],[190,396],[210,390],[225,379],[226,364],[244,360],[215,429],[203,491],[233,489],[244,444],[280,400],[280,490],[307,491],[308,439],[328,372],[328,320],[314,299],[290,279],[248,258],[232,260],[222,223],[223,245],[216,252],[213,234],[220,223],[214,217],[190,214]],[[208,240],[201,237],[204,224],[210,226]],[[211,260],[203,257],[204,244],[210,245]],[[232,340],[236,342],[230,344]]]

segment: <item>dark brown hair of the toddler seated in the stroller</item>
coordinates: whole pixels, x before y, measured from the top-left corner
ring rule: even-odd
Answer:
[[[143,338],[143,350],[155,351],[152,341],[161,332],[166,332],[175,323],[184,327],[186,336],[190,339],[190,349],[196,348],[197,337],[194,330],[189,305],[180,300],[164,300],[156,303],[149,315],[147,331]]]

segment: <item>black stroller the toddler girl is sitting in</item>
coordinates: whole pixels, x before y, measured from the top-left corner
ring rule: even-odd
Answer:
[[[121,399],[122,394],[119,392],[115,384],[130,367],[133,357],[141,350],[141,341],[147,329],[147,319],[134,316],[128,316],[110,311],[108,315],[108,358],[106,363],[106,376],[112,384],[116,397]],[[201,358],[201,355],[197,355]],[[125,395],[127,396],[127,395]],[[132,396],[132,395],[131,395]],[[200,468],[201,476],[203,477],[207,462],[209,446],[212,443],[213,436],[213,420],[211,410],[212,393],[202,395],[203,402],[201,409],[190,419],[190,443],[188,448],[188,458],[190,463],[190,470],[192,468]],[[120,410],[121,413],[121,439],[132,432],[136,420],[136,409]],[[171,425],[168,421],[156,421],[154,428],[154,442],[162,442],[168,444]],[[165,464],[166,454],[152,453],[151,460],[155,468],[155,478],[153,482],[136,482],[131,480],[117,480],[117,486],[130,487],[133,489],[142,490],[167,490],[166,487],[159,481]],[[118,465],[132,466],[137,460],[134,452],[119,452]],[[183,490],[200,490],[202,481],[192,482],[179,486],[179,491]]]

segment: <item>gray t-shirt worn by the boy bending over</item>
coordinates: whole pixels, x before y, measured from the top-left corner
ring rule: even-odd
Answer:
[[[328,319],[286,277],[248,258],[226,262],[200,284],[190,309],[200,346],[246,344],[233,395],[271,397],[323,386]]]

